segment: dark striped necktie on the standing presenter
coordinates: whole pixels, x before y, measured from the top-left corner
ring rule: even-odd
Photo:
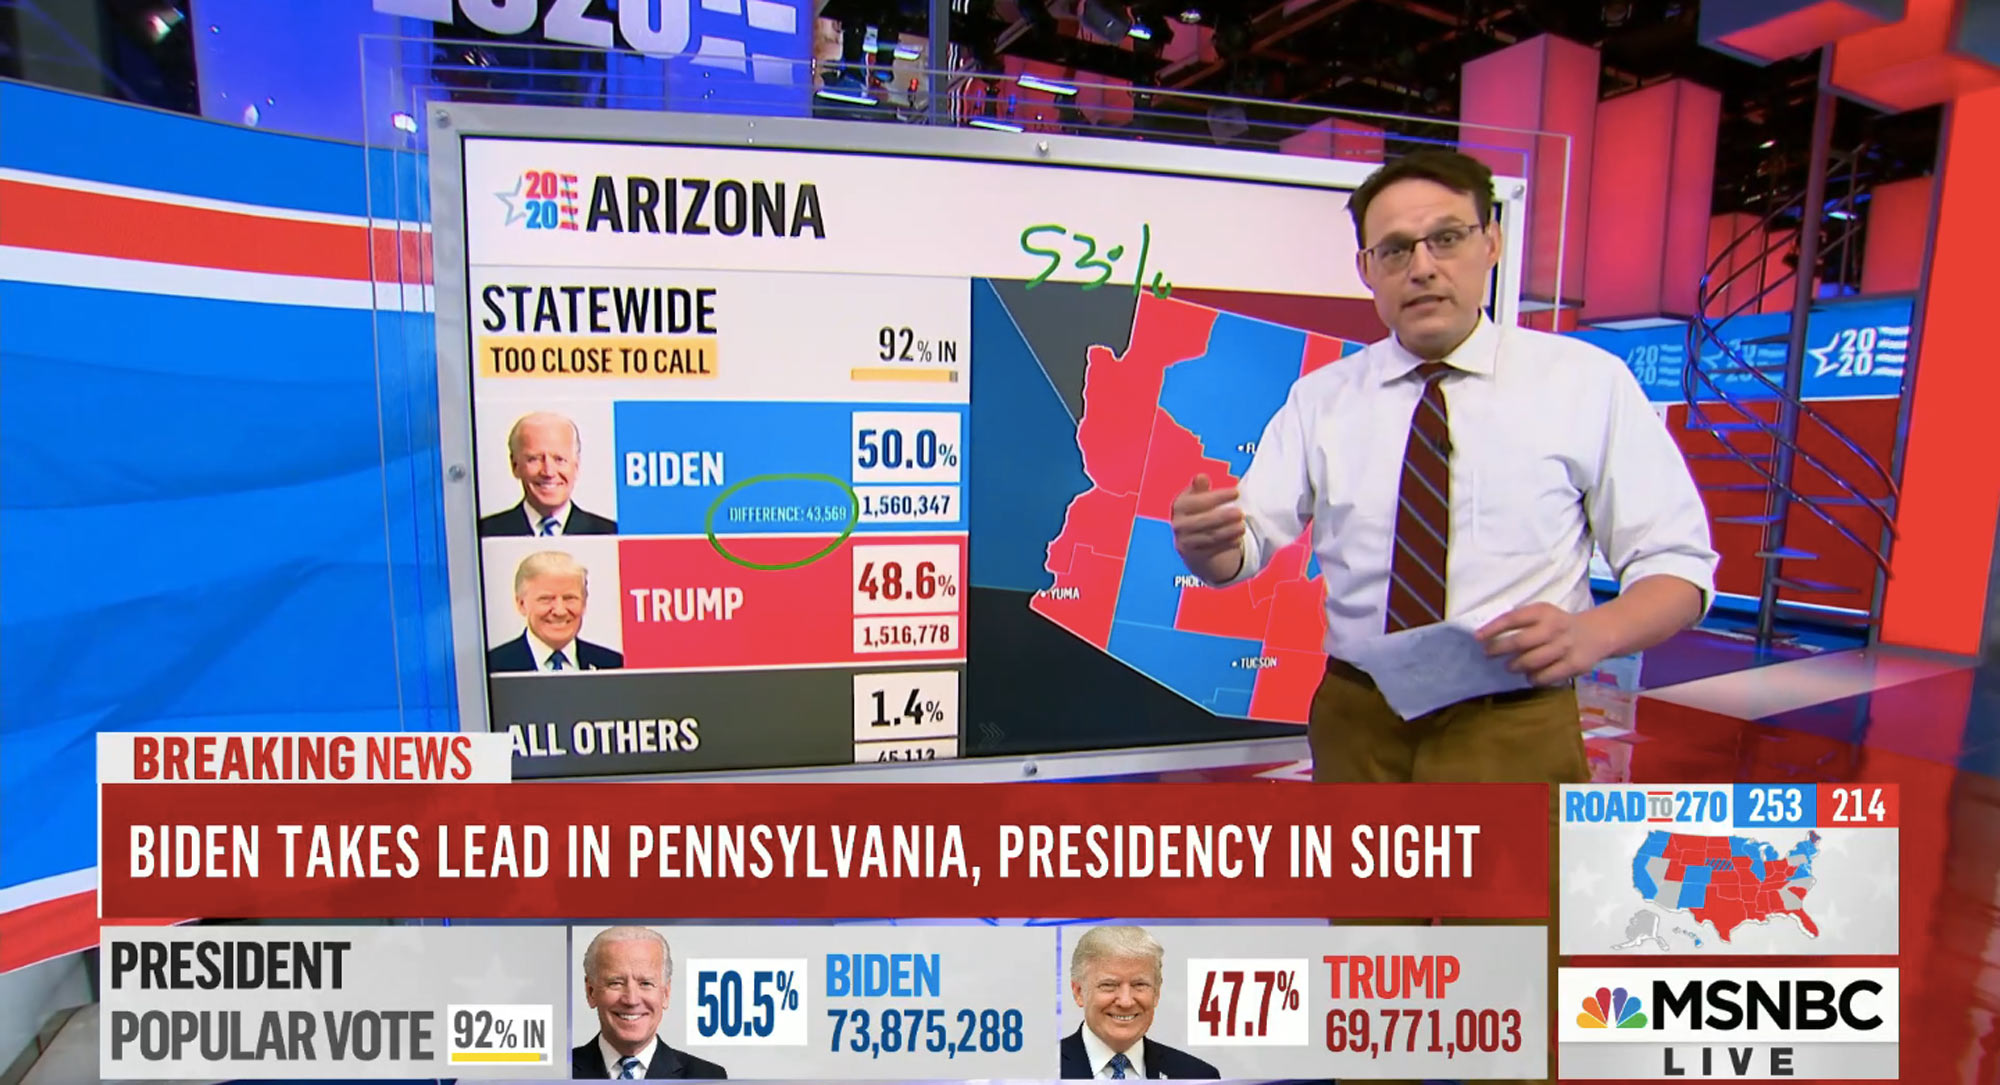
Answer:
[[[1424,362],[1416,376],[1424,394],[1410,414],[1396,496],[1396,553],[1388,571],[1384,629],[1396,633],[1444,621],[1446,547],[1452,532],[1452,432],[1444,412],[1444,374],[1452,366]]]

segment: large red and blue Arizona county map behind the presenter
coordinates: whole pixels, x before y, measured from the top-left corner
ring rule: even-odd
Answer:
[[[1304,723],[1326,667],[1306,538],[1216,591],[1180,563],[1168,516],[1198,472],[1234,484],[1292,382],[1362,346],[1142,296],[1126,350],[1088,350],[1076,442],[1090,488],[1048,542],[1054,583],[1034,613],[1216,715]]]

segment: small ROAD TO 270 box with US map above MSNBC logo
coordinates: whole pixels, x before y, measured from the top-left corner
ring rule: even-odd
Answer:
[[[1896,785],[1562,785],[1564,955],[1894,955]]]

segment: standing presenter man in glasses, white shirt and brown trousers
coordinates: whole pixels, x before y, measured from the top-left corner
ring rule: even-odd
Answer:
[[[1390,336],[1292,384],[1238,486],[1174,500],[1210,585],[1254,577],[1310,518],[1326,583],[1316,781],[1582,783],[1574,679],[1700,621],[1708,516],[1616,356],[1482,312],[1500,260],[1492,172],[1450,150],[1376,170],[1348,210]],[[1620,579],[1592,607],[1592,540]],[[1504,609],[1476,629],[1528,689],[1398,717],[1342,659],[1368,639]]]

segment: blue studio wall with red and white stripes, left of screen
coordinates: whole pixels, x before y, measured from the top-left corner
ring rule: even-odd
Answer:
[[[378,394],[376,368],[378,336],[430,342],[428,312],[378,316],[374,286],[338,276],[120,258],[92,222],[220,210],[202,222],[228,240],[340,216],[324,258],[352,266],[340,238],[366,250],[370,210],[420,218],[414,156],[364,166],[352,144],[4,82],[0,116],[0,242],[56,194],[82,210],[56,248],[0,248],[0,893],[16,907],[96,863],[98,731],[452,713],[426,701],[448,697],[442,657],[396,635],[448,625],[436,376],[428,352],[386,350]]]

